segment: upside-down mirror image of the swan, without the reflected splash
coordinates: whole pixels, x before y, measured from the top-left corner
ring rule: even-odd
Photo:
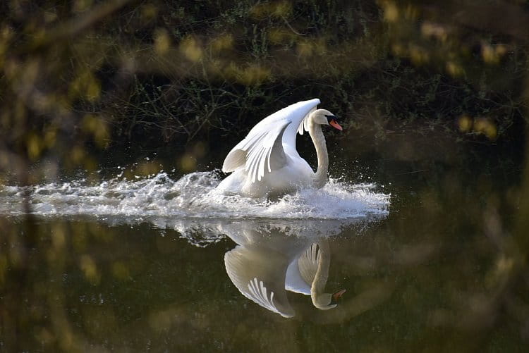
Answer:
[[[274,224],[239,228],[222,230],[238,243],[224,254],[224,265],[242,295],[284,317],[296,314],[286,291],[310,295],[320,310],[336,307],[334,301],[345,290],[334,295],[324,291],[331,261],[327,239],[288,237],[281,225]]]

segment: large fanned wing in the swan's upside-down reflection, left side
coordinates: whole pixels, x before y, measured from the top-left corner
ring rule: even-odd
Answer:
[[[286,261],[274,260],[273,254],[239,246],[224,255],[226,273],[242,295],[269,311],[290,318],[294,311],[284,290]]]

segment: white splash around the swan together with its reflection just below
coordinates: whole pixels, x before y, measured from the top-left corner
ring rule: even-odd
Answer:
[[[300,190],[276,202],[224,195],[215,190],[217,172],[197,172],[173,180],[166,173],[126,180],[122,175],[99,184],[85,179],[29,187],[0,185],[0,216],[31,213],[42,218],[95,219],[111,226],[151,223],[174,229],[197,247],[259,231],[298,237],[332,236],[343,227],[387,216],[389,195],[375,185],[329,180],[320,190]]]

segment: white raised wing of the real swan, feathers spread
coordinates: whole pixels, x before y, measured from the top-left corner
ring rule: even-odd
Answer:
[[[284,145],[296,149],[296,132],[306,130],[306,118],[320,99],[298,101],[276,111],[253,127],[244,140],[231,149],[222,171],[228,173],[245,168],[252,182],[286,163]]]

